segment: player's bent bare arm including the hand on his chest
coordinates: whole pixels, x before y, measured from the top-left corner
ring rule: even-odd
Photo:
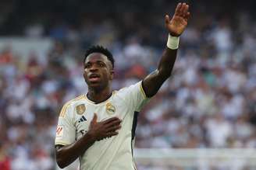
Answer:
[[[84,137],[81,137],[80,140],[73,144],[68,144],[66,146],[58,144],[55,146],[56,161],[59,167],[65,168],[67,165],[71,164],[76,158],[84,154],[95,141],[101,141],[107,137],[117,135],[118,132],[116,130],[121,128],[120,123],[121,120],[117,117],[97,122],[97,115],[94,114],[89,130]]]

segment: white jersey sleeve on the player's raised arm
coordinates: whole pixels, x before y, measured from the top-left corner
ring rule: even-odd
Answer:
[[[142,81],[123,88],[121,91],[123,91],[124,99],[128,105],[137,112],[140,112],[140,109],[150,100],[150,98],[145,95],[144,89],[142,88]]]

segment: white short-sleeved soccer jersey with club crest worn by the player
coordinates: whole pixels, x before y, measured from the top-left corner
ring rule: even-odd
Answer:
[[[55,144],[72,144],[87,133],[94,113],[98,122],[112,116],[122,121],[119,134],[96,141],[80,157],[80,170],[134,170],[133,142],[137,113],[148,102],[141,82],[114,91],[105,102],[95,104],[80,95],[67,102],[59,116]]]

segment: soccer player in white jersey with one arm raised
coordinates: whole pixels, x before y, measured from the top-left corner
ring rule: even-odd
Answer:
[[[137,114],[171,75],[179,37],[187,27],[189,5],[179,3],[172,19],[165,16],[167,47],[158,68],[130,87],[112,92],[114,59],[105,48],[94,46],[84,58],[86,95],[62,107],[56,130],[56,161],[64,168],[76,158],[81,170],[134,170],[133,142]]]

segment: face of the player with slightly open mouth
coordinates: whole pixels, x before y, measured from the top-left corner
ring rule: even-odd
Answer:
[[[102,90],[108,87],[113,74],[112,63],[104,54],[92,53],[87,56],[84,62],[84,80],[89,88]]]

